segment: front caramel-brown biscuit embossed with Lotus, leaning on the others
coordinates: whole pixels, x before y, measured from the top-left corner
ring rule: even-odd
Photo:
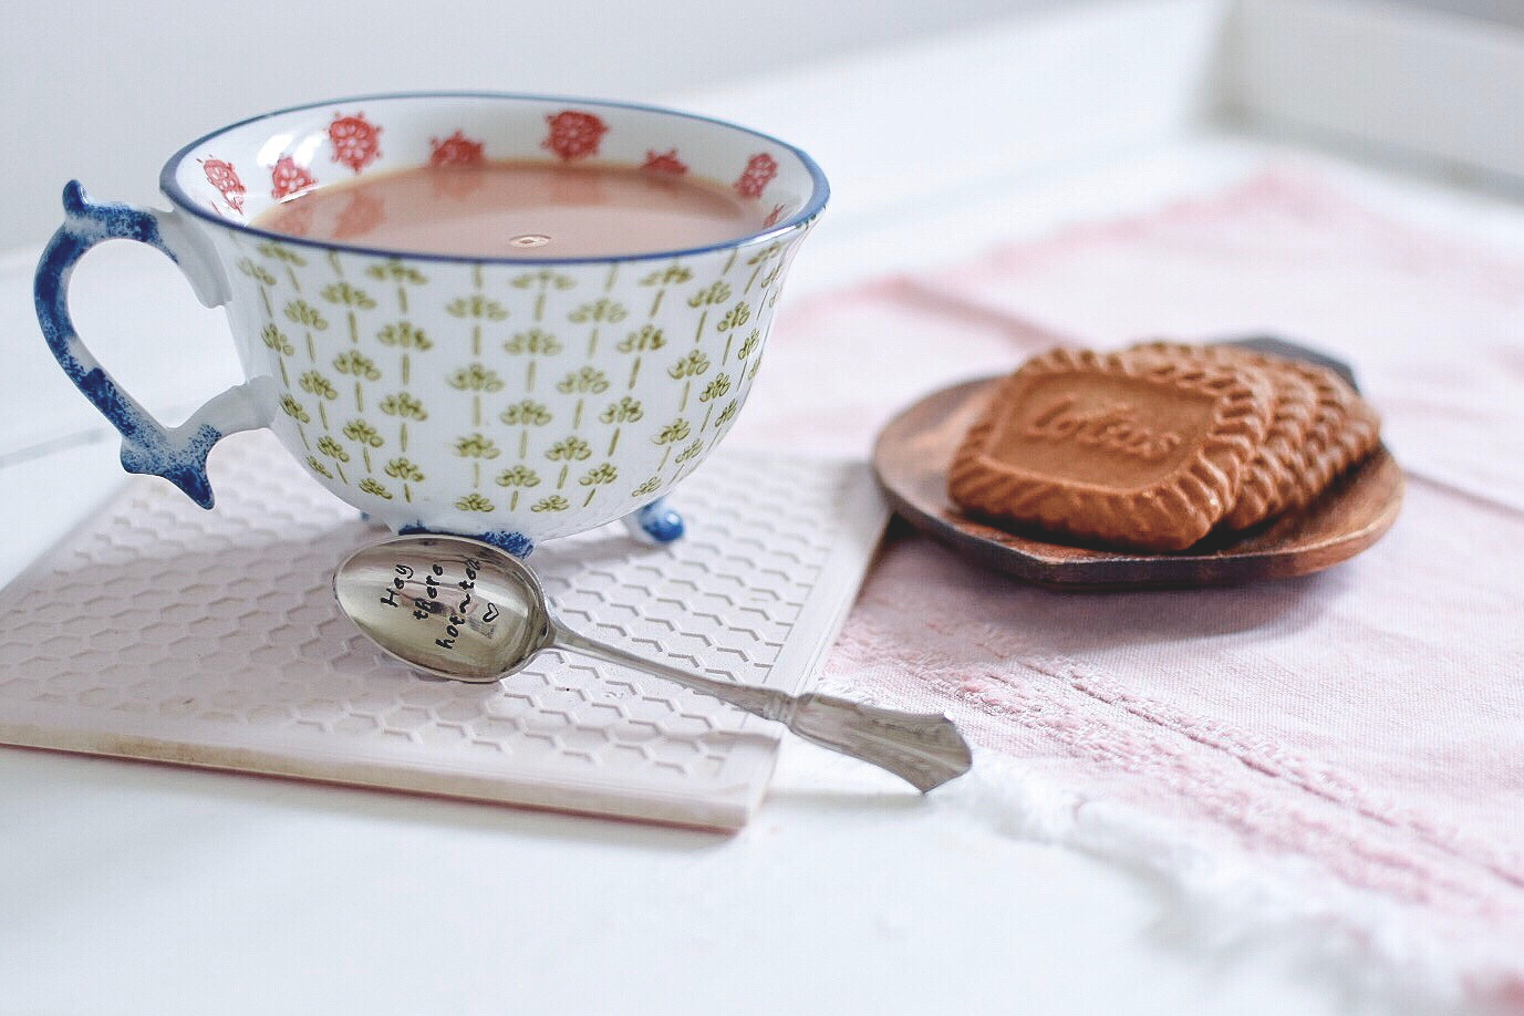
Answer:
[[[1274,407],[1269,378],[1228,358],[1058,349],[1000,384],[948,492],[995,519],[1184,550],[1231,510]]]

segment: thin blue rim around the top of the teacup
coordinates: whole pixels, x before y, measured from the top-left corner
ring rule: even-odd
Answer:
[[[809,171],[809,178],[812,190],[809,201],[800,207],[799,212],[788,216],[777,225],[770,225],[757,233],[745,233],[735,239],[728,239],[719,244],[707,244],[704,247],[683,247],[678,250],[654,250],[642,251],[639,254],[602,254],[588,257],[465,257],[460,254],[436,254],[424,251],[408,251],[396,250],[390,247],[364,247],[360,244],[335,244],[331,241],[306,239],[302,236],[291,236],[288,233],[276,233],[273,230],[262,230],[245,222],[233,222],[226,219],[215,212],[207,212],[200,207],[190,195],[184,192],[180,181],[175,178],[180,163],[184,161],[195,149],[201,148],[213,137],[219,134],[227,134],[229,131],[236,131],[241,126],[248,126],[250,123],[259,123],[261,120],[268,120],[277,116],[285,116],[288,113],[300,113],[303,110],[323,110],[335,105],[354,105],[358,102],[383,102],[389,99],[517,99],[526,102],[564,102],[567,105],[578,107],[604,107],[613,110],[642,110],[645,113],[660,113],[663,116],[678,116],[686,120],[700,120],[704,123],[713,123],[716,126],[730,128],[733,131],[741,131],[742,134],[750,134],[759,140],[768,142],[770,145],[777,145],[779,148],[788,151],[805,169]],[[323,102],[303,102],[302,105],[287,107],[283,110],[273,110],[270,113],[261,113],[259,116],[251,116],[245,120],[238,120],[236,123],[229,123],[227,126],[219,126],[215,131],[209,131],[201,137],[195,139],[165,163],[165,168],[158,171],[158,189],[163,190],[165,196],[169,198],[181,212],[197,216],[198,219],[206,219],[215,225],[224,228],[238,230],[239,233],[248,233],[251,236],[261,236],[264,239],[273,239],[282,244],[300,244],[302,247],[317,247],[322,250],[337,250],[351,254],[370,254],[375,257],[407,257],[408,260],[440,260],[440,262],[471,262],[483,265],[594,265],[608,262],[625,262],[625,260],[661,260],[672,257],[692,257],[695,254],[707,254],[716,250],[730,250],[732,247],[745,247],[748,244],[756,244],[768,239],[774,239],[789,233],[800,225],[809,222],[815,215],[826,207],[826,200],[831,196],[831,184],[826,181],[826,174],[820,169],[814,158],[805,154],[803,149],[789,145],[788,142],[779,140],[771,134],[764,134],[762,131],[754,131],[750,126],[742,126],[739,123],[732,123],[730,120],[721,120],[712,116],[701,116],[698,113],[684,113],[681,110],[671,110],[668,107],[649,105],[645,102],[619,102],[614,99],[584,99],[579,96],[546,96],[546,94],[529,94],[520,91],[383,91],[364,96],[349,96],[343,99],[328,99]]]

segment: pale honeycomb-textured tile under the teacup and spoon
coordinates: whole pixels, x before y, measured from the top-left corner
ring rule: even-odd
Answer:
[[[421,678],[329,593],[383,538],[265,434],[203,512],[136,478],[0,593],[0,742],[738,827],[780,730],[636,672],[547,653],[507,681]],[[808,684],[885,510],[863,466],[721,452],[669,547],[608,527],[535,551],[568,625],[707,673]]]

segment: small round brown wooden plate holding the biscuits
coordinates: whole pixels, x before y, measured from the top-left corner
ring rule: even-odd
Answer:
[[[1376,449],[1315,503],[1247,533],[1212,535],[1178,553],[1105,550],[1053,542],[1039,530],[997,529],[948,500],[946,471],[963,434],[1000,378],[928,395],[879,433],[873,471],[890,503],[914,527],[978,564],[1064,588],[1198,586],[1320,571],[1366,550],[1391,529],[1402,471]]]

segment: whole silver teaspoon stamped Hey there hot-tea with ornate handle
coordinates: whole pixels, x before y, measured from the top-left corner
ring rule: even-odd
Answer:
[[[550,612],[527,565],[475,539],[398,536],[363,547],[334,573],[334,596],[381,649],[440,678],[489,684],[518,673],[546,649],[561,649],[777,720],[805,740],[902,777],[922,794],[972,766],[968,742],[942,714],[716,681],[579,635]]]

